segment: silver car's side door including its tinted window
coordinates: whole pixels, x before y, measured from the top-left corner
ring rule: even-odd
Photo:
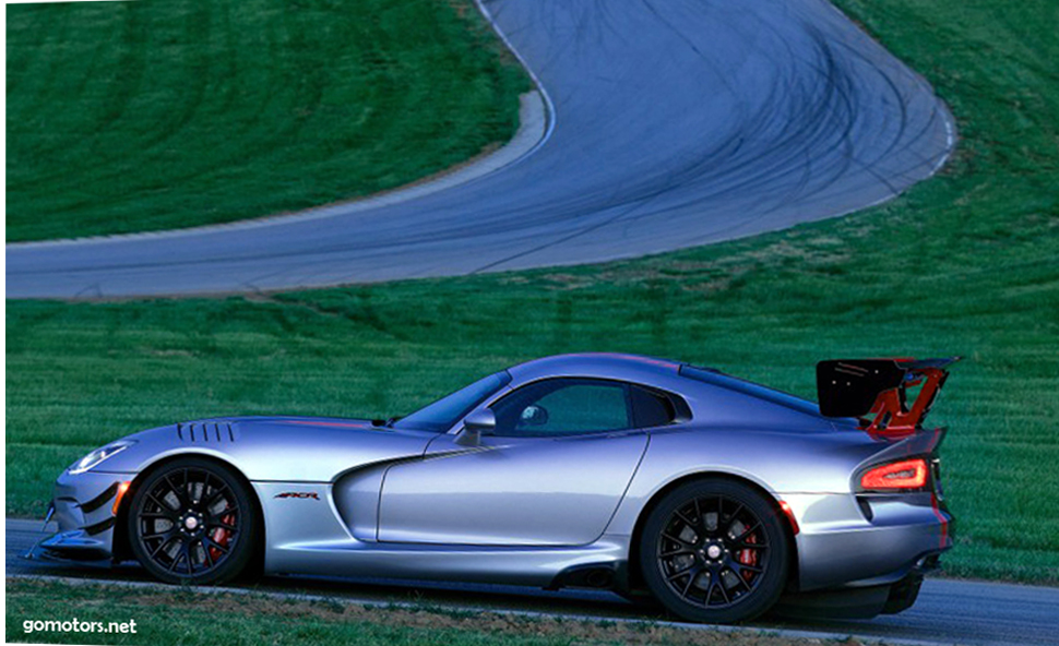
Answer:
[[[524,385],[489,407],[478,446],[443,434],[383,480],[380,541],[573,546],[606,528],[647,446],[631,384],[580,378]]]

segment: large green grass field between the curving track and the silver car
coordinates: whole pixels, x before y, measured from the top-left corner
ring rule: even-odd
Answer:
[[[606,265],[248,300],[8,306],[9,513],[90,444],[221,414],[382,417],[513,362],[624,350],[812,395],[829,357],[966,355],[931,421],[950,574],[1059,583],[1055,4],[844,1],[952,105],[948,170],[849,217]]]

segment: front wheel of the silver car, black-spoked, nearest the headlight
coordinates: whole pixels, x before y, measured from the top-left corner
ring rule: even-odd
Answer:
[[[251,492],[210,459],[181,457],[139,482],[128,514],[136,560],[166,583],[231,581],[250,562],[259,524]]]

